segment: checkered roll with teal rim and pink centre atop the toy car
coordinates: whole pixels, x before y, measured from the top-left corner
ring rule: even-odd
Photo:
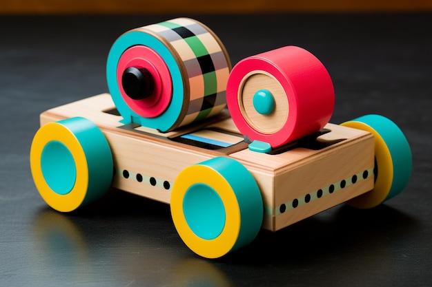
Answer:
[[[146,69],[153,90],[145,98],[125,92],[129,67]],[[218,37],[193,19],[178,18],[130,30],[112,45],[107,81],[123,123],[171,131],[226,107],[231,63]]]

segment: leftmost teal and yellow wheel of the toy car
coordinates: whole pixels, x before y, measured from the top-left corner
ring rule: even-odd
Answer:
[[[30,149],[30,168],[41,197],[69,212],[105,195],[112,180],[112,154],[101,130],[86,118],[43,125]]]

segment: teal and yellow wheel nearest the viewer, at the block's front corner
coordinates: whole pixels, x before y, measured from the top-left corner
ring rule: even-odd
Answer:
[[[181,171],[170,204],[181,239],[207,258],[222,257],[252,242],[263,219],[255,179],[230,158],[214,158]]]

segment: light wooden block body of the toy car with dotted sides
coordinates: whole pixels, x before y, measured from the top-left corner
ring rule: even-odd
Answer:
[[[275,155],[250,151],[245,142],[205,149],[175,138],[220,132],[229,134],[230,141],[241,140],[227,113],[164,134],[122,125],[109,94],[50,109],[41,114],[41,124],[75,116],[92,120],[105,134],[115,164],[112,186],[161,202],[170,202],[173,182],[186,167],[217,156],[238,160],[257,181],[264,201],[263,227],[271,231],[373,189],[374,142],[366,131],[328,124],[330,132],[315,140],[320,148],[300,146]],[[211,132],[199,133],[203,129]],[[224,141],[226,136],[215,139]]]

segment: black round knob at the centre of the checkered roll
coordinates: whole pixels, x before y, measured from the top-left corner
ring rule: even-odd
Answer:
[[[155,82],[146,68],[128,67],[121,76],[121,86],[133,100],[142,100],[153,93]]]

